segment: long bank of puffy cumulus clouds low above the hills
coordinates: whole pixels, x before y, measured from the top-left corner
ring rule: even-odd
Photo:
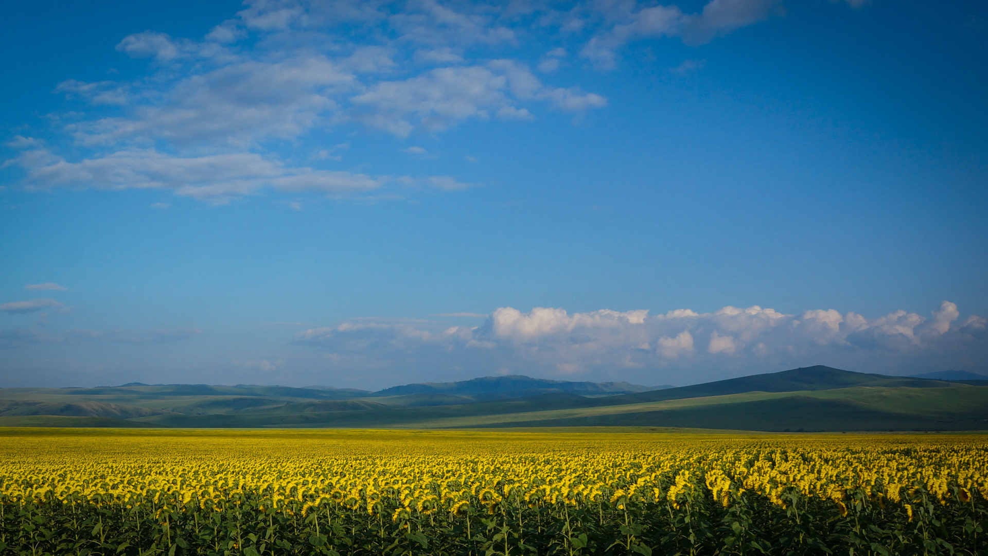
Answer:
[[[326,351],[353,367],[584,374],[637,377],[644,383],[686,383],[699,381],[703,373],[723,378],[730,372],[818,363],[892,374],[929,365],[983,366],[988,321],[972,315],[958,323],[958,315],[949,302],[930,318],[907,311],[874,318],[834,309],[786,314],[757,305],[655,315],[502,307],[481,326],[348,322],[301,331],[293,343]]]

